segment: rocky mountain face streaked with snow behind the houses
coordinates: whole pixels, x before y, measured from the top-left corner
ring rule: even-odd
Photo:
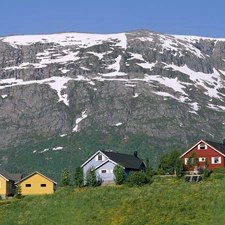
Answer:
[[[52,150],[81,162],[101,147],[156,159],[199,138],[220,141],[224,78],[225,39],[143,30],[1,37],[1,164],[22,152],[54,162]]]

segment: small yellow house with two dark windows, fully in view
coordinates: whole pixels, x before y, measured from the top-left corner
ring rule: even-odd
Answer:
[[[22,195],[52,194],[56,184],[37,171],[16,182],[16,185],[20,185]]]

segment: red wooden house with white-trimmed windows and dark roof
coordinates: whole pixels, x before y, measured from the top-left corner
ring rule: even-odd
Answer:
[[[199,160],[198,168],[194,168],[194,171],[196,172],[197,170],[201,170],[204,168],[206,158],[208,159],[209,170],[213,170],[216,167],[225,167],[225,140],[223,140],[223,143],[200,140],[199,142],[194,144],[180,156],[180,158],[182,158],[183,160],[184,171],[188,171],[187,160],[193,152],[197,154]]]

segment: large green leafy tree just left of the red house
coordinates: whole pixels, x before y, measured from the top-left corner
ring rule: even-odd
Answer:
[[[180,150],[173,148],[170,152],[163,153],[159,158],[158,169],[164,173],[174,173],[175,162],[180,156]]]

